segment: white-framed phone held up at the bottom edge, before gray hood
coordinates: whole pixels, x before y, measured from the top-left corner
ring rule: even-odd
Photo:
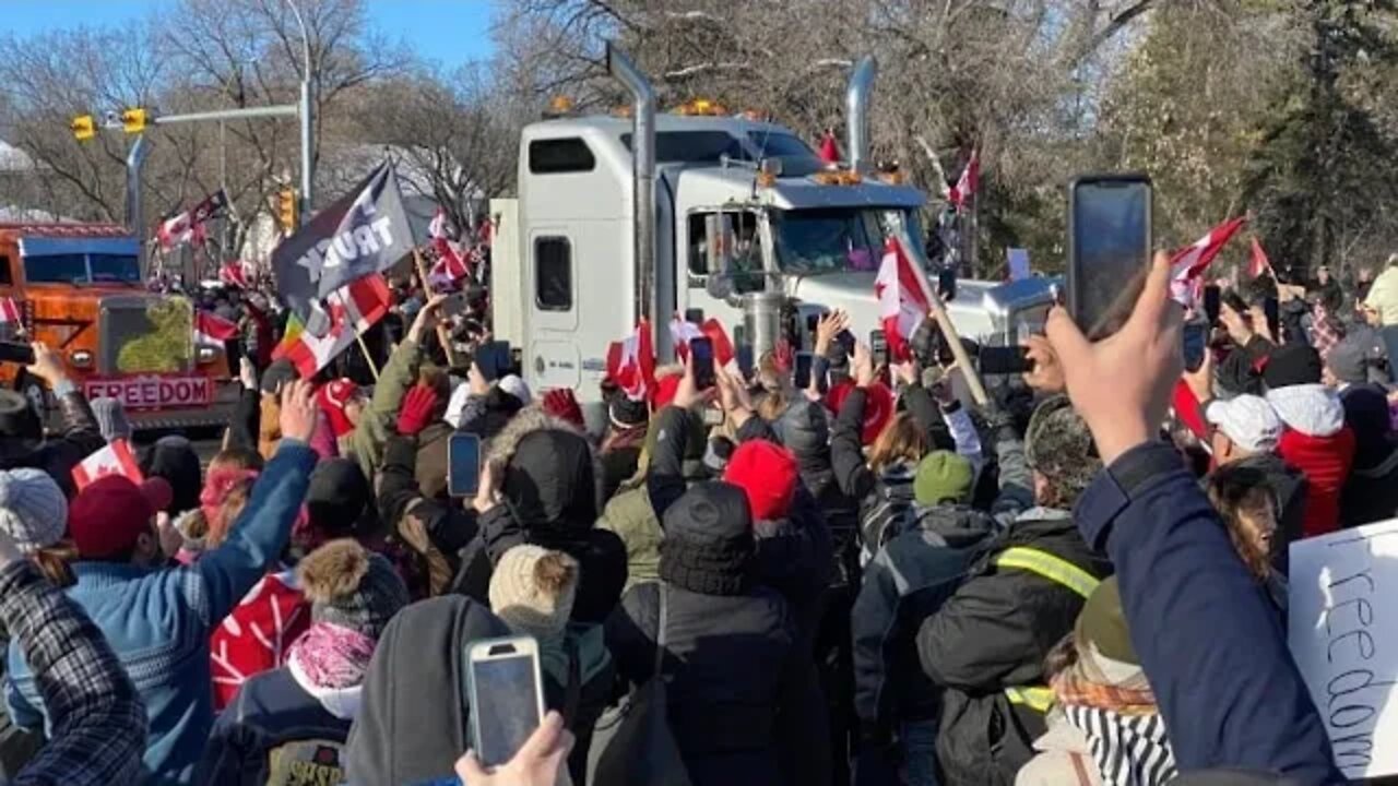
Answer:
[[[534,636],[481,639],[466,648],[471,738],[485,766],[506,764],[544,722]]]

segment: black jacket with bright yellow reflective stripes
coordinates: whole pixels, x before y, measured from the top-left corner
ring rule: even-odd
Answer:
[[[1092,552],[1068,513],[1035,508],[973,561],[966,579],[917,632],[923,671],[945,688],[937,740],[944,783],[1011,785],[1046,731],[1043,715],[1004,691],[1040,687],[1044,656],[1072,631],[1085,597],[1022,568],[1000,568],[1011,547],[1047,552],[1102,579],[1111,564]]]

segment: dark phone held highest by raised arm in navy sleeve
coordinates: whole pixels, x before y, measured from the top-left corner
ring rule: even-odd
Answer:
[[[1090,330],[1151,260],[1151,180],[1082,179],[1068,201],[1068,310]]]

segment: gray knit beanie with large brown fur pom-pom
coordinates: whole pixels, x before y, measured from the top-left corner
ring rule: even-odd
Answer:
[[[410,603],[408,587],[383,557],[352,538],[331,540],[296,565],[310,620],[377,639]]]

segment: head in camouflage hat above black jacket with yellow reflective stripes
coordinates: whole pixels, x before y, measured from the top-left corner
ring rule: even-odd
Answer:
[[[1044,400],[1029,418],[1025,460],[1044,476],[1053,490],[1054,508],[1071,508],[1102,470],[1086,421],[1067,396]]]

